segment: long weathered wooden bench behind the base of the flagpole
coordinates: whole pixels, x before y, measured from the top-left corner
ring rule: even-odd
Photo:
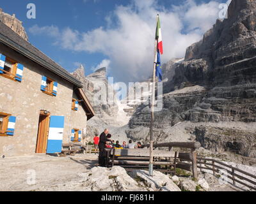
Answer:
[[[105,149],[107,167],[119,165],[128,170],[148,168],[149,149]],[[177,163],[177,152],[154,150],[154,167],[173,173]],[[173,170],[172,170],[173,168]]]

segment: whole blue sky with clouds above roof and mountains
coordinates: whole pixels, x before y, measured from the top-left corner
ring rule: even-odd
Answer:
[[[35,3],[36,19],[26,17]],[[150,76],[156,14],[163,17],[163,61],[183,57],[214,24],[224,0],[8,0],[0,7],[15,13],[29,42],[68,71],[83,64],[86,75],[108,67],[115,82]],[[201,13],[201,14],[200,14]],[[152,39],[152,40],[151,40]]]

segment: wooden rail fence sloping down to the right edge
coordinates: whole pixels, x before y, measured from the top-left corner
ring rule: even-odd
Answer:
[[[253,175],[252,173],[248,173],[246,171],[240,170],[239,168],[236,168],[230,164],[225,164],[216,159],[207,159],[207,158],[198,157],[197,163],[199,164],[197,167],[200,168],[201,171],[202,169],[212,170],[213,175],[216,175],[216,173],[220,173],[220,170],[225,170],[225,172],[227,172],[227,178],[231,179],[234,185],[236,185],[236,182],[237,182],[239,184],[242,184],[243,186],[246,186],[256,191],[256,181],[253,180],[253,179],[256,180],[256,175]],[[204,166],[202,166],[202,164],[204,164]],[[223,166],[225,166],[226,168]],[[242,175],[239,175],[237,173],[240,173]],[[244,175],[246,175],[247,177],[244,177]],[[244,183],[242,180],[246,180],[252,185],[248,183]]]

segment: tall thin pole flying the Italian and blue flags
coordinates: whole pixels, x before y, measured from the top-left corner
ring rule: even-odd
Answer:
[[[158,22],[159,15],[157,14],[156,23]],[[153,177],[153,143],[154,143],[154,104],[155,104],[155,89],[156,89],[156,63],[157,63],[157,39],[155,39],[154,48],[154,68],[153,68],[153,83],[152,83],[152,97],[151,97],[151,117],[150,117],[150,154],[149,154],[149,167],[148,173]]]

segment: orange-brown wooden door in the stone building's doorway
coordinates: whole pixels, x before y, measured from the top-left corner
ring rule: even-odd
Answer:
[[[38,122],[36,153],[46,153],[49,132],[49,115],[41,114]]]

